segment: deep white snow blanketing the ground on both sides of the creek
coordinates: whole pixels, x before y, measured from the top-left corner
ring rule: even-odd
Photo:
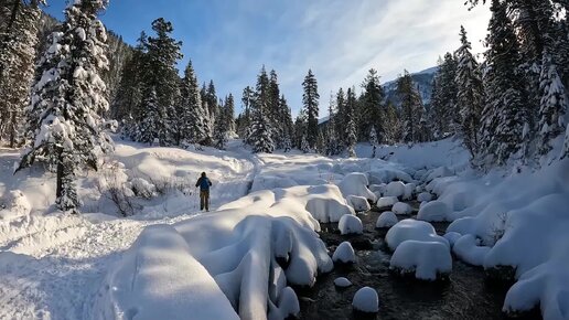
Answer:
[[[0,319],[152,319],[155,310],[175,319],[196,306],[196,319],[282,319],[298,313],[286,284],[311,285],[333,266],[315,233],[320,222],[354,215],[351,205],[362,199],[409,213],[393,206],[417,195],[425,222],[388,236],[393,249],[416,242],[398,253],[399,265],[408,269],[417,264],[408,256],[433,247],[417,242],[444,244],[445,253],[453,246],[468,263],[514,269],[519,281],[504,310],[540,306],[546,319],[569,319],[568,160],[481,174],[469,169],[460,141],[383,147],[383,160],[368,158],[369,146],[356,152],[361,158],[257,156],[238,140],[227,151],[118,141],[105,169],[80,179],[84,213],[73,216],[51,206],[53,174],[36,166],[13,177],[18,151],[2,149]],[[214,183],[207,214],[198,212],[194,186],[202,171]],[[101,196],[117,185],[133,216],[120,216]],[[432,220],[453,222],[447,239],[434,235]],[[447,273],[448,264],[433,270]],[[204,308],[204,299],[218,308]]]

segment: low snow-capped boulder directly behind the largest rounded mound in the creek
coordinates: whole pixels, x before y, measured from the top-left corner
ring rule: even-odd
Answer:
[[[387,245],[395,252],[406,241],[437,242],[450,248],[449,242],[437,235],[434,227],[428,222],[406,218],[394,225],[385,236]]]

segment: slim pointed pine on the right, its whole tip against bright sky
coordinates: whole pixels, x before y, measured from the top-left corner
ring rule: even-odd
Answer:
[[[480,65],[471,53],[472,46],[466,38],[464,26],[461,26],[462,46],[457,51],[459,66],[457,68],[457,104],[460,108],[461,125],[464,147],[474,157],[479,150],[480,116],[484,102],[484,86]]]

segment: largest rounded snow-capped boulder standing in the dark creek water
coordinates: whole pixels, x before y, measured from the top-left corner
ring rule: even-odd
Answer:
[[[397,246],[389,268],[415,273],[417,279],[436,280],[452,271],[452,257],[449,246],[442,243],[406,241]]]

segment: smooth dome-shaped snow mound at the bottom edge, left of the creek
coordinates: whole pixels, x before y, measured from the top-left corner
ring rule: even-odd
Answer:
[[[94,319],[239,319],[184,238],[167,225],[140,234],[109,271],[96,305]]]

